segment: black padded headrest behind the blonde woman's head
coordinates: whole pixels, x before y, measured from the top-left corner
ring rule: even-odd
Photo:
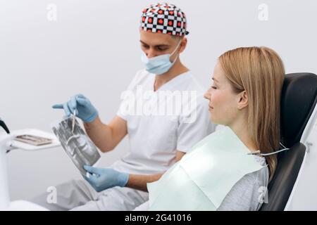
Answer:
[[[302,137],[317,102],[317,76],[292,73],[285,76],[281,96],[280,137],[290,148]]]

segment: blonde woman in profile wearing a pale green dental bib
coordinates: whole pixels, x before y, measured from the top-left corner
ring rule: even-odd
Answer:
[[[265,153],[279,149],[280,93],[284,76],[282,60],[266,47],[239,48],[220,56],[213,83],[204,97],[209,100],[212,122],[225,128],[194,146],[159,181],[148,184],[149,202],[135,210],[259,210],[277,165],[276,155]],[[236,141],[239,148],[249,151],[245,154],[248,156],[242,158],[249,160],[245,162],[250,165],[242,165],[235,156],[232,158],[236,160],[232,160],[230,154],[218,160],[221,162],[211,162],[210,159],[221,154],[213,148],[218,148],[216,140],[225,134],[230,136],[228,142]],[[230,146],[226,136],[223,138],[223,146]],[[201,150],[201,146],[210,146],[212,153]],[[240,154],[235,149],[226,150]],[[258,150],[266,156],[256,153]],[[204,165],[204,155],[199,154],[206,154],[209,165]],[[251,164],[253,169],[248,168]],[[240,171],[243,169],[244,173]],[[233,182],[231,186],[230,182]],[[224,191],[228,186],[228,191]],[[214,193],[211,190],[215,190]]]

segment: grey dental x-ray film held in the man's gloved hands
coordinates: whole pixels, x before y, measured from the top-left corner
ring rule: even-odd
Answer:
[[[85,131],[80,127],[77,120],[75,120],[75,127],[73,129],[72,117],[56,122],[51,127],[67,155],[73,160],[80,173],[85,176],[87,172],[83,166],[92,166],[100,158],[97,147],[85,134]]]

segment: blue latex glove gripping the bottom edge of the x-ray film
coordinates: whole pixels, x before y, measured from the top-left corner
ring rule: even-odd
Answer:
[[[90,176],[84,176],[85,180],[97,192],[104,191],[115,186],[124,187],[129,180],[129,174],[118,172],[114,169],[97,168],[85,165],[84,169],[90,173]]]

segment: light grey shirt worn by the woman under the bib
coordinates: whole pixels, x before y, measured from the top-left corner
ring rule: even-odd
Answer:
[[[266,166],[265,158],[254,155],[256,161]],[[237,181],[218,207],[218,211],[257,211],[268,194],[268,167],[245,176]]]

